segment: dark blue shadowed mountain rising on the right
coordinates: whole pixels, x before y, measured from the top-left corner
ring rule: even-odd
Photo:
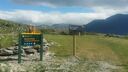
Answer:
[[[94,20],[85,25],[86,32],[128,34],[128,14],[116,14],[104,20]]]

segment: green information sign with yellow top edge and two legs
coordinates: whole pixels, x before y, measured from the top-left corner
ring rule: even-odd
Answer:
[[[40,61],[43,60],[43,34],[41,33],[20,33],[18,48],[18,63],[21,63],[23,46],[40,46]]]

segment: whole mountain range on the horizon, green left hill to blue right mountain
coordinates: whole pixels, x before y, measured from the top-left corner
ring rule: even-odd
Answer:
[[[71,24],[39,25],[37,27],[68,31],[69,25]],[[85,32],[126,35],[128,34],[128,14],[116,14],[106,19],[93,20],[83,26]],[[24,31],[25,29],[26,25],[24,24],[0,19],[0,33],[19,32],[19,30]]]

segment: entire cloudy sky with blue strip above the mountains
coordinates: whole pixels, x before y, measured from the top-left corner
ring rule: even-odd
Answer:
[[[0,19],[34,25],[81,25],[115,14],[128,14],[128,0],[0,0]]]

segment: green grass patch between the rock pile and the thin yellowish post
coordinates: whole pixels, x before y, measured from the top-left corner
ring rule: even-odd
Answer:
[[[72,37],[63,35],[45,35],[49,42],[55,42],[56,45],[52,46],[51,51],[56,53],[56,56],[70,56],[72,54]]]

